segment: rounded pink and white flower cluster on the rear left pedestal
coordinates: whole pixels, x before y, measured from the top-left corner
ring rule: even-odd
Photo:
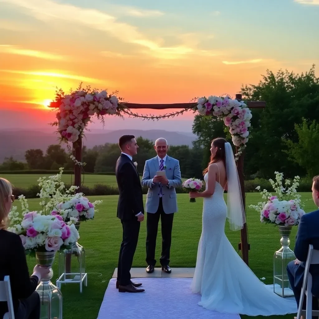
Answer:
[[[96,204],[100,204],[100,201],[91,203],[81,193],[78,193],[70,200],[57,204],[50,215],[61,216],[67,222],[72,219],[86,221],[94,218]]]

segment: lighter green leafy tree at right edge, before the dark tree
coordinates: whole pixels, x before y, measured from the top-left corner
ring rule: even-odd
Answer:
[[[306,171],[308,176],[313,177],[319,172],[319,124],[312,121],[308,123],[303,119],[302,124],[295,125],[295,131],[298,135],[298,142],[293,142],[291,139],[283,138],[287,145],[288,159],[299,164]]]

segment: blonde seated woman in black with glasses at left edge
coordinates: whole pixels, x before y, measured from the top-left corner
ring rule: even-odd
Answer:
[[[25,250],[19,235],[6,230],[6,219],[14,201],[11,184],[0,178],[0,280],[10,276],[14,315],[17,319],[40,318],[40,297],[35,291],[49,269],[36,265],[29,277]],[[0,318],[8,312],[7,302],[0,302]]]

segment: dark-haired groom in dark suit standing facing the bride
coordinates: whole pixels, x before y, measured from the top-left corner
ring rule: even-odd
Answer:
[[[137,143],[133,135],[119,139],[121,156],[116,162],[115,175],[119,189],[117,217],[121,219],[123,240],[121,243],[116,288],[119,292],[139,293],[144,289],[131,281],[130,269],[137,246],[140,222],[144,220],[143,193],[139,175],[132,157],[137,154]]]

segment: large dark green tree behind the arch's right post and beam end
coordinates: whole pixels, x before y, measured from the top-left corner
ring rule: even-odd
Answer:
[[[282,137],[296,143],[298,134],[295,124],[302,117],[319,122],[319,78],[315,67],[305,74],[279,70],[276,74],[267,70],[258,85],[241,88],[246,100],[264,100],[264,110],[253,110],[252,137],[245,155],[245,170],[248,174],[270,178],[274,171],[285,175],[302,174],[303,168],[290,161],[283,150],[287,145]]]

